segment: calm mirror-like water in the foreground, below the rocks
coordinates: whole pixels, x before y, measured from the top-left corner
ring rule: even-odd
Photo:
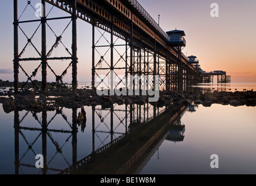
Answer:
[[[0,173],[256,173],[254,107],[85,110],[86,124],[78,126],[72,118],[80,109],[7,114],[0,105]],[[44,169],[35,167],[37,154],[45,156]],[[219,169],[210,167],[212,154],[219,156]],[[108,158],[103,169],[96,169]]]

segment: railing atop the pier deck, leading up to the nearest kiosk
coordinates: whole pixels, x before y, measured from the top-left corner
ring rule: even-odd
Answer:
[[[143,7],[138,3],[138,1],[136,0],[128,0],[129,2],[131,2],[132,5],[134,5],[134,7],[136,9],[139,10],[139,12],[156,28],[157,31],[159,31],[160,34],[162,34],[162,36],[169,41],[169,36],[166,34],[165,31],[162,30],[162,28],[159,26],[159,24],[157,24],[155,22],[155,20],[148,14],[148,12],[146,12],[145,9],[143,9]]]

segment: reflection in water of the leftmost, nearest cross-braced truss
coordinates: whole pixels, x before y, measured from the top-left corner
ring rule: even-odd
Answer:
[[[72,163],[69,162],[64,154],[62,149],[64,148],[64,146],[66,146],[66,144],[68,144],[69,140],[72,137],[72,147],[73,147],[73,151],[76,151],[76,149],[74,149],[74,147],[76,147],[76,145],[74,145],[73,143],[76,141],[76,133],[78,132],[77,127],[76,127],[76,119],[73,120],[75,121],[74,123],[71,123],[68,121],[68,118],[65,116],[65,114],[63,113],[63,108],[59,108],[56,110],[55,115],[51,117],[51,119],[49,121],[47,121],[47,112],[43,111],[41,117],[38,116],[38,113],[34,113],[31,111],[28,111],[24,114],[24,116],[22,116],[22,118],[19,118],[19,111],[15,110],[15,122],[14,122],[14,128],[15,128],[15,174],[19,174],[20,171],[23,172],[22,167],[30,167],[30,168],[35,168],[34,164],[27,164],[27,163],[22,163],[22,160],[24,159],[24,157],[27,155],[28,152],[32,152],[34,156],[36,156],[38,153],[41,154],[41,152],[36,152],[33,149],[34,144],[38,141],[38,139],[41,137],[42,140],[42,154],[44,156],[44,168],[40,169],[40,171],[38,172],[38,174],[49,174],[49,171],[54,171],[54,172],[59,172],[61,170],[57,169],[57,168],[53,168],[50,167],[50,164],[52,161],[54,161],[55,157],[57,154],[60,154],[62,156],[62,158],[64,159],[66,166],[72,166]],[[75,112],[75,116],[76,116],[76,110],[73,110],[73,112]],[[37,123],[39,124],[40,127],[26,127],[26,126],[22,126],[22,123],[24,123],[24,119],[29,115],[29,113],[31,113],[31,116],[33,116],[34,120],[37,121]],[[74,113],[73,113],[74,114]],[[64,121],[66,122],[66,124],[68,124],[68,127],[70,128],[70,130],[58,130],[58,129],[53,129],[53,128],[49,128],[51,125],[51,122],[55,119],[55,117],[57,115],[61,115],[62,119],[64,119]],[[30,142],[29,140],[27,140],[26,135],[24,134],[24,131],[34,131],[34,132],[38,132],[39,134],[37,135],[37,137]],[[66,137],[66,140],[63,144],[59,144],[58,140],[54,139],[54,135],[52,135],[52,133],[64,133],[64,134],[68,134],[68,137]],[[24,140],[24,142],[27,144],[27,150],[23,153],[22,157],[20,158],[20,136],[22,137],[22,139]],[[55,146],[56,151],[54,153],[54,155],[50,158],[50,160],[47,161],[47,139],[49,139],[52,144]],[[73,159],[76,159],[76,157],[73,157]]]

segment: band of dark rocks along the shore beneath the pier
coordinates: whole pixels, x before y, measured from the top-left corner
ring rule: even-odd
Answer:
[[[14,95],[11,91],[0,93],[0,103],[6,113],[13,110],[55,110],[59,107],[80,108],[81,106],[101,105],[109,108],[113,104],[144,105],[148,103],[149,96],[99,96],[96,91],[86,88],[79,89],[78,95],[72,95],[67,87],[59,87],[47,94],[24,90]],[[182,92],[160,91],[159,101],[149,102],[158,107],[169,105],[204,105],[211,106],[213,103],[232,106],[256,106],[256,92]]]

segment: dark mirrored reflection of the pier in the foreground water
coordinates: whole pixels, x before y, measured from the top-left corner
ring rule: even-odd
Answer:
[[[183,141],[186,108],[146,105],[85,107],[54,112],[15,110],[15,174],[139,173],[164,139]],[[36,169],[35,156],[44,156]]]

